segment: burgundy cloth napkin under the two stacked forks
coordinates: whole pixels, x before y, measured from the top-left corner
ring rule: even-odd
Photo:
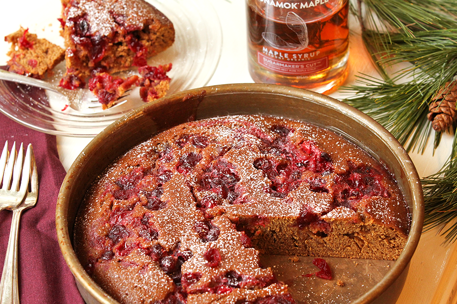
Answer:
[[[19,296],[21,304],[84,303],[75,279],[57,242],[55,207],[65,170],[60,163],[56,138],[24,127],[0,114],[0,150],[8,140],[34,147],[38,167],[39,196],[35,207],[21,216],[18,249]],[[1,153],[1,151],[0,151]],[[3,271],[12,212],[0,211],[0,271]]]

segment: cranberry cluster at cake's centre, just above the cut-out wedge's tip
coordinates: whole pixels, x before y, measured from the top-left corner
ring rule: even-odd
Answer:
[[[239,194],[235,191],[235,185],[240,177],[232,164],[219,158],[209,168],[204,170],[200,178],[200,186],[207,191],[212,191],[218,197],[234,202]]]

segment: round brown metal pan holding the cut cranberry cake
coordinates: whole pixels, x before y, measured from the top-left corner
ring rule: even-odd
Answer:
[[[407,244],[398,260],[388,264],[384,272],[375,268],[371,274],[365,274],[367,278],[377,278],[373,286],[362,290],[357,289],[356,282],[352,282],[352,287],[346,284],[347,290],[359,290],[360,294],[355,292],[338,302],[396,302],[419,241],[423,222],[420,179],[400,143],[375,120],[331,97],[276,85],[232,84],[192,89],[145,104],[97,135],[71,166],[58,196],[56,228],[63,257],[87,303],[117,303],[87,275],[73,249],[76,213],[90,184],[116,158],[157,132],[192,120],[244,114],[284,117],[330,129],[365,149],[394,174],[412,214]],[[344,261],[341,263],[344,264]],[[362,285],[365,284],[362,282]]]

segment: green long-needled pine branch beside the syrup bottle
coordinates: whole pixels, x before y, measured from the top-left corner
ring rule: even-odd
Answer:
[[[457,6],[455,0],[358,0],[353,9],[362,37],[383,78],[362,76],[360,85],[343,88],[345,101],[386,127],[408,151],[423,151],[441,132],[427,120],[429,105],[446,82],[457,77]],[[395,73],[389,67],[407,67]],[[455,134],[457,122],[452,125]],[[448,242],[457,240],[457,135],[441,171],[422,179],[426,230],[441,227]]]

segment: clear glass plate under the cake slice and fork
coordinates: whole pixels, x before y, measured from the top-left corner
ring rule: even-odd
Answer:
[[[204,87],[216,70],[222,48],[220,22],[210,1],[148,0],[148,2],[173,22],[176,32],[173,46],[151,58],[148,64],[154,66],[170,62],[173,64],[168,73],[172,79],[168,94]],[[35,3],[39,3],[39,7],[34,8]],[[21,2],[8,4],[8,6],[22,6],[22,8],[23,5],[24,3]],[[60,16],[61,7],[59,2],[56,3],[55,0],[30,2],[30,6],[31,10],[46,8],[46,14],[35,14],[34,16],[41,17],[30,20],[24,20],[26,18],[24,16],[21,21],[6,18],[0,21],[1,34],[5,36],[22,25],[30,28],[30,32],[36,33],[39,38],[46,38],[53,43],[56,43],[57,39],[62,41],[61,37],[57,36],[59,31],[57,18]],[[48,10],[49,8],[52,8],[51,11]],[[8,9],[14,9],[14,7]],[[11,23],[14,21],[16,26],[9,32],[3,32],[12,28]],[[32,24],[27,24],[27,21]],[[0,51],[6,54],[8,49],[9,45],[7,48],[2,45]],[[57,83],[63,72],[64,63],[60,63],[55,68],[53,79],[49,81]],[[67,100],[55,93],[0,81],[0,111],[27,127],[54,135],[93,137],[128,111],[144,104],[139,97],[138,89],[130,91],[126,99],[125,103],[102,112],[80,112],[66,106]]]

